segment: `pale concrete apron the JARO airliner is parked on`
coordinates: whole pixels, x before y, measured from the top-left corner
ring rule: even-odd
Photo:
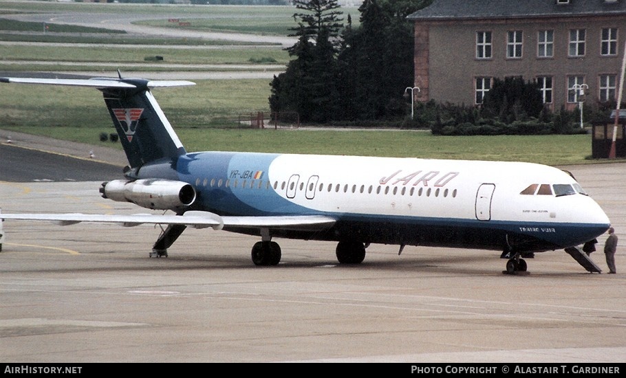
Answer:
[[[566,167],[626,235],[626,164]],[[1,169],[1,166],[0,166]],[[102,199],[100,181],[0,181],[3,212],[149,212]],[[589,274],[563,251],[502,274],[498,252],[371,245],[336,262],[334,243],[186,230],[149,258],[158,227],[5,221],[0,361],[573,362],[626,357],[626,265]],[[622,236],[621,240],[626,240]]]

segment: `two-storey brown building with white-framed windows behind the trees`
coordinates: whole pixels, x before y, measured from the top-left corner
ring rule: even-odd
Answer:
[[[415,23],[421,101],[480,104],[493,78],[537,80],[551,109],[616,98],[626,0],[435,0]]]

